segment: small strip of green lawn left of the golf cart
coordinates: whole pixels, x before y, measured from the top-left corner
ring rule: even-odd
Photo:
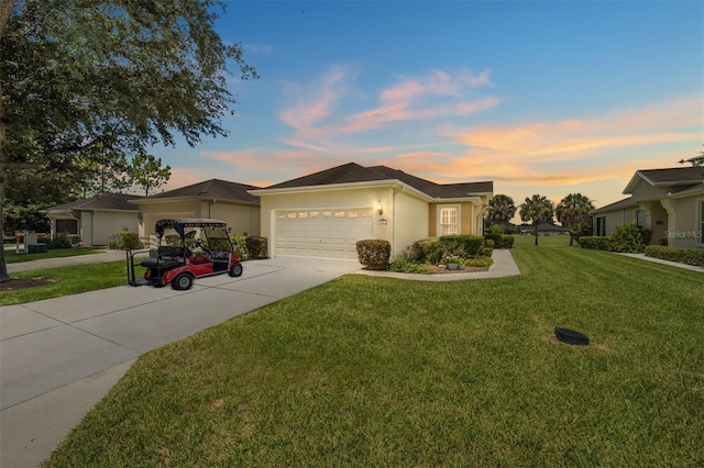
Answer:
[[[138,277],[143,271],[143,268],[138,267]],[[107,261],[19,271],[10,275],[10,278],[42,278],[53,282],[16,291],[0,292],[0,305],[21,304],[125,285],[128,272],[125,261]]]

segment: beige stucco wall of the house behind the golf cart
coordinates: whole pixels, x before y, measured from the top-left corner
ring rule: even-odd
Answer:
[[[212,218],[228,223],[233,234],[260,235],[260,207],[208,200],[165,200],[140,203],[140,238],[154,235],[158,220],[168,218]]]

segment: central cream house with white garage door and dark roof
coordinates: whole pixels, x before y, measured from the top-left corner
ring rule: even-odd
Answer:
[[[355,259],[360,239],[391,242],[394,257],[422,238],[482,235],[493,190],[350,163],[250,193],[261,198],[270,256]]]

